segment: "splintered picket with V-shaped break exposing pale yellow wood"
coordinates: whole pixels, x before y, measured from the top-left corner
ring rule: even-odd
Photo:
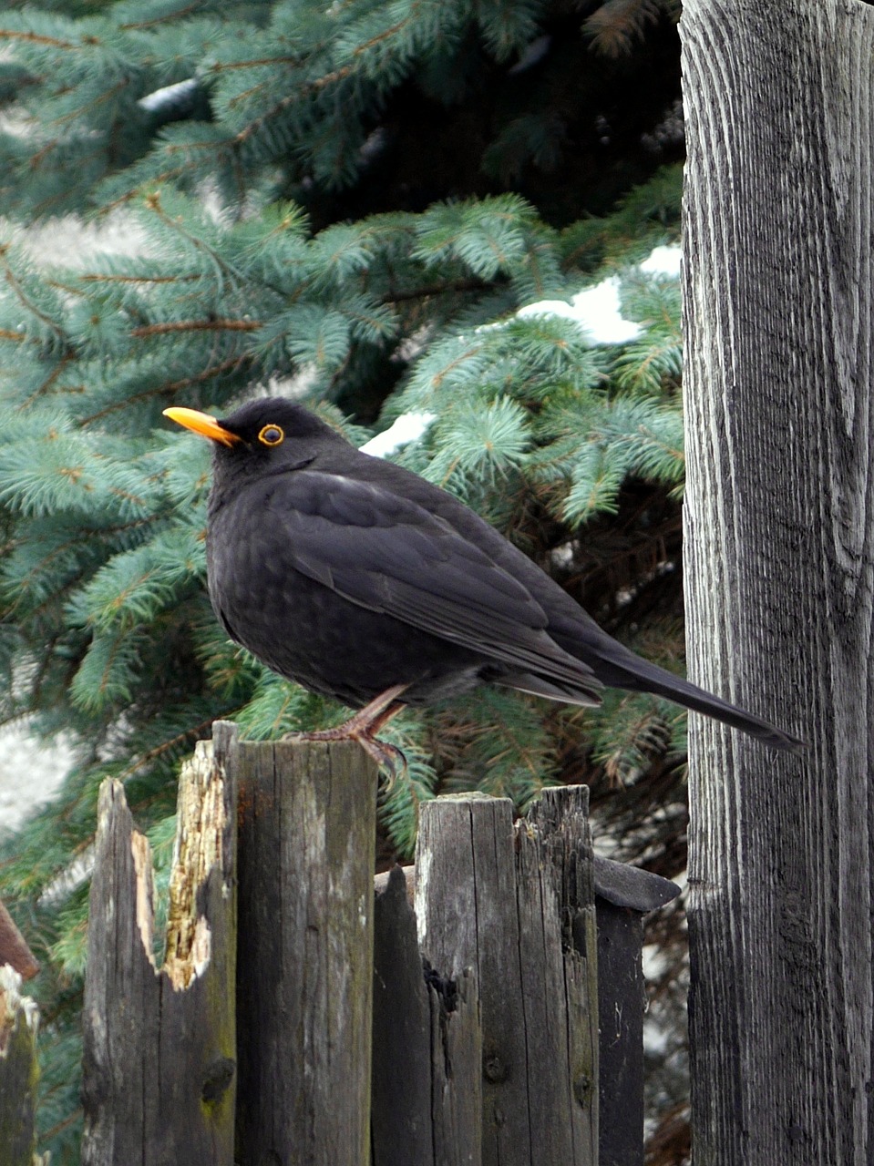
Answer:
[[[83,1166],[232,1166],[236,791],[228,736],[182,767],[167,956],[148,842],[100,788],[83,1012]]]

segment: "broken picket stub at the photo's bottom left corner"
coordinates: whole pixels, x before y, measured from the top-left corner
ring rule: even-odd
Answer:
[[[0,967],[0,1166],[34,1166],[39,1013],[21,976]]]

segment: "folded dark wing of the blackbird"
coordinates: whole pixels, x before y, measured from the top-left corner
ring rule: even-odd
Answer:
[[[534,596],[445,519],[375,483],[315,470],[272,484],[264,506],[265,549],[274,548],[277,562],[351,603],[600,703],[601,683],[551,639]]]

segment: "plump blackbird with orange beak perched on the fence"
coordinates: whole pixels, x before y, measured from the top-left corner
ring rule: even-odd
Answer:
[[[315,736],[352,736],[385,761],[375,733],[405,704],[492,683],[595,705],[610,684],[802,747],[635,655],[463,503],[302,406],[165,412],[214,442],[207,562],[225,631],[281,676],[362,710]]]

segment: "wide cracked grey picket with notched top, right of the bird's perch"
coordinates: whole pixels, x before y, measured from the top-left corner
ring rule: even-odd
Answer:
[[[426,802],[420,949],[442,979],[473,969],[482,1023],[483,1166],[597,1161],[597,983],[583,786]],[[473,1159],[475,1160],[475,1159]]]

